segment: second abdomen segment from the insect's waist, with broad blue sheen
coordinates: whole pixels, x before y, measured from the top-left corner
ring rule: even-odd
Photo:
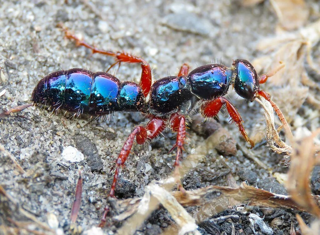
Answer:
[[[105,72],[94,74],[92,89],[90,95],[90,108],[94,114],[108,114],[110,111],[116,111],[117,95],[120,81]]]

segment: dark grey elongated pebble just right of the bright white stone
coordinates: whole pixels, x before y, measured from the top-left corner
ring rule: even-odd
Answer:
[[[74,140],[76,141],[76,148],[83,153],[84,159],[88,166],[90,166],[91,171],[100,171],[103,164],[97,147],[85,136],[77,135]]]

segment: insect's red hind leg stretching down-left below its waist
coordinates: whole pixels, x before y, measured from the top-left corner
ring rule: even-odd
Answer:
[[[160,117],[152,117],[152,119],[147,123],[146,127],[137,126],[133,129],[132,133],[129,135],[128,139],[125,141],[124,146],[116,160],[116,170],[113,177],[112,185],[110,188],[109,197],[115,197],[115,189],[117,179],[119,177],[119,169],[124,167],[125,160],[130,154],[130,150],[133,145],[134,138],[138,144],[144,144],[147,140],[152,140],[156,138],[161,132],[164,131],[165,120]],[[111,169],[112,170],[112,169]],[[104,227],[106,222],[106,217],[109,212],[108,206],[104,208],[104,213],[101,219],[99,227]]]

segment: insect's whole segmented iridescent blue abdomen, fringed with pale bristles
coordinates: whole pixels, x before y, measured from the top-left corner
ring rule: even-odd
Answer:
[[[134,82],[120,82],[106,72],[70,69],[41,79],[32,93],[35,103],[71,112],[104,115],[112,111],[140,111],[144,96]]]

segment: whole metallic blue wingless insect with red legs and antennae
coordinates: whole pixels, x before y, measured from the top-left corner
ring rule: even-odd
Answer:
[[[186,136],[186,116],[198,102],[202,102],[200,111],[204,117],[216,116],[221,107],[226,105],[231,120],[238,126],[244,139],[253,147],[254,142],[245,132],[239,112],[223,97],[227,94],[230,85],[238,95],[248,101],[252,102],[256,96],[267,99],[282,123],[288,125],[279,108],[270,99],[270,95],[260,90],[260,84],[266,82],[271,75],[264,74],[258,77],[252,64],[247,60],[237,59],[230,67],[222,64],[207,64],[191,72],[188,72],[189,66],[183,64],[178,76],[165,77],[151,85],[151,69],[142,58],[123,52],[97,49],[78,39],[66,28],[63,30],[68,39],[75,40],[76,45],[89,48],[93,53],[116,57],[115,64],[120,65],[121,62],[141,64],[140,84],[121,82],[107,72],[91,72],[74,68],[45,76],[38,82],[31,97],[31,101],[36,104],[48,105],[55,110],[71,111],[77,116],[82,113],[101,116],[115,111],[136,111],[148,117],[149,122],[145,126],[136,126],[132,130],[116,159],[110,197],[114,197],[119,169],[124,166],[134,139],[138,144],[144,144],[147,140],[156,138],[166,126],[170,126],[172,131],[177,132],[176,144],[170,151],[177,148],[174,166],[175,172],[179,174],[180,156]],[[148,101],[147,97],[149,97]],[[19,111],[19,108],[13,111]],[[180,190],[184,190],[180,181],[177,184]],[[102,225],[106,221],[107,213],[106,207]]]

